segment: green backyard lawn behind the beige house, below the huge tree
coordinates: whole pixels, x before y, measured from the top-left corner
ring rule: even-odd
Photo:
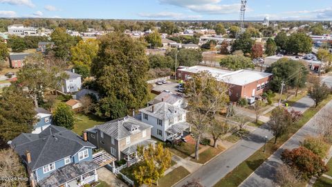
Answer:
[[[105,122],[104,119],[100,119],[93,114],[84,115],[84,114],[75,114],[75,124],[73,132],[81,135],[82,131],[89,129],[95,125],[100,125]]]

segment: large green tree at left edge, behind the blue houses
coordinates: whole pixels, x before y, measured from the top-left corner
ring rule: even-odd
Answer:
[[[33,130],[35,118],[33,100],[15,86],[3,90],[0,96],[0,138],[10,141],[21,133]]]

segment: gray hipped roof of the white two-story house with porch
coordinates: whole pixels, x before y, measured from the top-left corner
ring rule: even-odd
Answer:
[[[153,112],[152,109],[154,108]],[[146,107],[144,109],[140,109],[140,112],[148,114],[150,116],[154,116],[155,118],[166,120],[169,118],[174,118],[181,114],[185,114],[186,110],[180,107],[175,107],[169,103],[160,102],[156,105],[152,105]]]

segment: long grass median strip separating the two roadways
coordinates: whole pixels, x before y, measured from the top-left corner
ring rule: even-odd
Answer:
[[[306,124],[317,112],[322,109],[329,101],[332,99],[332,95],[329,98],[326,98],[320,105],[316,108],[309,108],[304,112],[302,118],[297,121],[290,130],[288,130],[288,134],[280,137],[277,140],[277,143],[274,144],[274,139],[268,141],[266,144],[266,152],[263,152],[263,148],[257,150],[254,154],[252,154],[248,159],[243,161],[242,163],[234,168],[232,172],[229,172],[228,175],[223,177],[220,181],[218,181],[214,186],[239,186],[249,175],[254,172],[259,166],[261,166],[270,155],[272,155],[277,149],[279,149],[293,134],[297,132],[304,124]]]

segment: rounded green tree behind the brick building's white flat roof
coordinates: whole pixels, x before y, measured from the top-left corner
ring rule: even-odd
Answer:
[[[228,55],[221,59],[219,63],[221,67],[228,68],[233,71],[239,69],[254,69],[255,65],[249,57],[243,55]]]

